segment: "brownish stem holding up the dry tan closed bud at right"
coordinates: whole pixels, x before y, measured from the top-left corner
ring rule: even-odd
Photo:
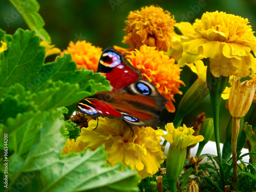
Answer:
[[[232,145],[232,159],[233,159],[233,188],[234,190],[238,189],[238,173],[237,173],[237,139],[240,129],[240,119],[237,117],[232,118],[232,136],[231,136],[231,145]]]

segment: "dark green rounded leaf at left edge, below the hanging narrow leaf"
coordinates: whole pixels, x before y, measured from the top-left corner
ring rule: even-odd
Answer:
[[[22,83],[41,69],[45,49],[34,32],[18,29],[11,46],[0,56],[0,87]]]

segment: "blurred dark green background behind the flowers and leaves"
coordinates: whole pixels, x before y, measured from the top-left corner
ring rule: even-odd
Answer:
[[[39,14],[45,20],[45,29],[55,44],[61,50],[67,48],[70,41],[87,40],[94,46],[102,49],[117,45],[127,48],[122,44],[125,35],[124,28],[127,15],[130,11],[138,10],[143,6],[160,6],[175,16],[176,22],[193,23],[206,11],[224,11],[248,18],[253,31],[256,30],[256,1],[248,0],[185,0],[185,1],[128,1],[128,0],[38,0]],[[0,28],[13,34],[17,28],[28,29],[22,15],[20,15],[8,0],[0,1]],[[9,20],[8,20],[9,18]],[[8,22],[7,22],[8,21]],[[181,79],[186,87],[182,86],[183,93],[189,88],[197,76],[184,68]],[[181,95],[175,95],[176,108]],[[226,101],[222,100],[220,112],[221,141],[225,137],[225,129],[229,120],[229,112],[225,108]],[[200,113],[205,112],[206,117],[211,116],[209,96],[191,114],[185,117],[184,123],[189,125]],[[161,121],[172,121],[175,114],[167,114]]]

